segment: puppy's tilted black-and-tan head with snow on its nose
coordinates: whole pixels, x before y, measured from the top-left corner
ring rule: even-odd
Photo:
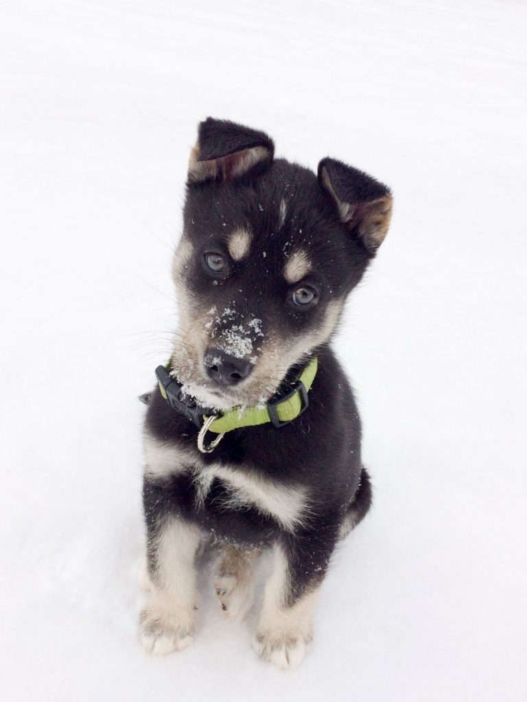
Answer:
[[[382,183],[273,156],[266,134],[214,119],[190,154],[172,364],[204,406],[266,402],[330,338],[388,230]]]

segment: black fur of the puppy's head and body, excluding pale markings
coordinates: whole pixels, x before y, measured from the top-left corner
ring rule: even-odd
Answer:
[[[363,240],[339,218],[332,194],[315,173],[297,164],[273,161],[273,142],[265,134],[228,122],[207,120],[200,127],[199,159],[226,157],[254,146],[264,146],[268,157],[238,178],[189,182],[184,209],[186,236],[195,255],[182,272],[181,283],[196,305],[223,306],[235,301],[237,314],[262,320],[263,331],[272,329],[285,340],[323,326],[330,305],[342,300],[363,276],[372,258]],[[339,197],[364,200],[389,193],[387,188],[331,159],[327,167]],[[285,222],[280,226],[280,201],[287,201]],[[249,257],[230,261],[227,277],[204,270],[203,251],[212,249],[228,258],[227,239],[234,227],[254,232]],[[318,304],[310,309],[295,306],[283,266],[287,251],[306,249],[312,262],[307,282],[318,291]],[[323,578],[341,525],[355,526],[371,501],[367,472],[360,456],[360,418],[351,386],[341,369],[330,340],[311,353],[318,357],[318,373],[309,392],[309,406],[297,420],[283,428],[271,424],[229,432],[211,454],[198,452],[197,428],[171,409],[160,392],[152,394],[146,416],[148,435],[162,442],[186,446],[201,461],[228,464],[231,470],[254,470],[282,484],[303,486],[308,510],[301,527],[286,530],[256,508],[226,509],[227,486],[214,479],[201,507],[191,470],[164,479],[145,478],[143,502],[149,543],[165,515],[179,515],[199,524],[219,540],[239,545],[279,543],[289,565],[287,603]],[[298,364],[306,362],[302,355]],[[286,390],[298,366],[282,383]]]

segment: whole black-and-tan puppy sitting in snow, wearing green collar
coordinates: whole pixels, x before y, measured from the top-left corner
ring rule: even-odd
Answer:
[[[195,552],[220,544],[214,588],[227,616],[274,571],[255,647],[298,665],[334,547],[370,506],[353,392],[330,347],[346,297],[388,229],[391,194],[323,159],[318,176],[273,158],[228,121],[200,124],[174,259],[179,327],[145,420],[148,651],[186,647]]]

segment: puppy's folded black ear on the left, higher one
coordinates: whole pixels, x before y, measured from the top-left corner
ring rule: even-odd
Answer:
[[[273,160],[275,145],[263,132],[226,119],[208,117],[198,129],[190,152],[188,183],[233,180]]]

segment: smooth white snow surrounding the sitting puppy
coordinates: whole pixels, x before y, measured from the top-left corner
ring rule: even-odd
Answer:
[[[526,6],[4,0],[0,8],[1,696],[526,699]],[[393,186],[339,337],[375,509],[302,668],[221,619],[149,658],[143,406],[211,114]]]

